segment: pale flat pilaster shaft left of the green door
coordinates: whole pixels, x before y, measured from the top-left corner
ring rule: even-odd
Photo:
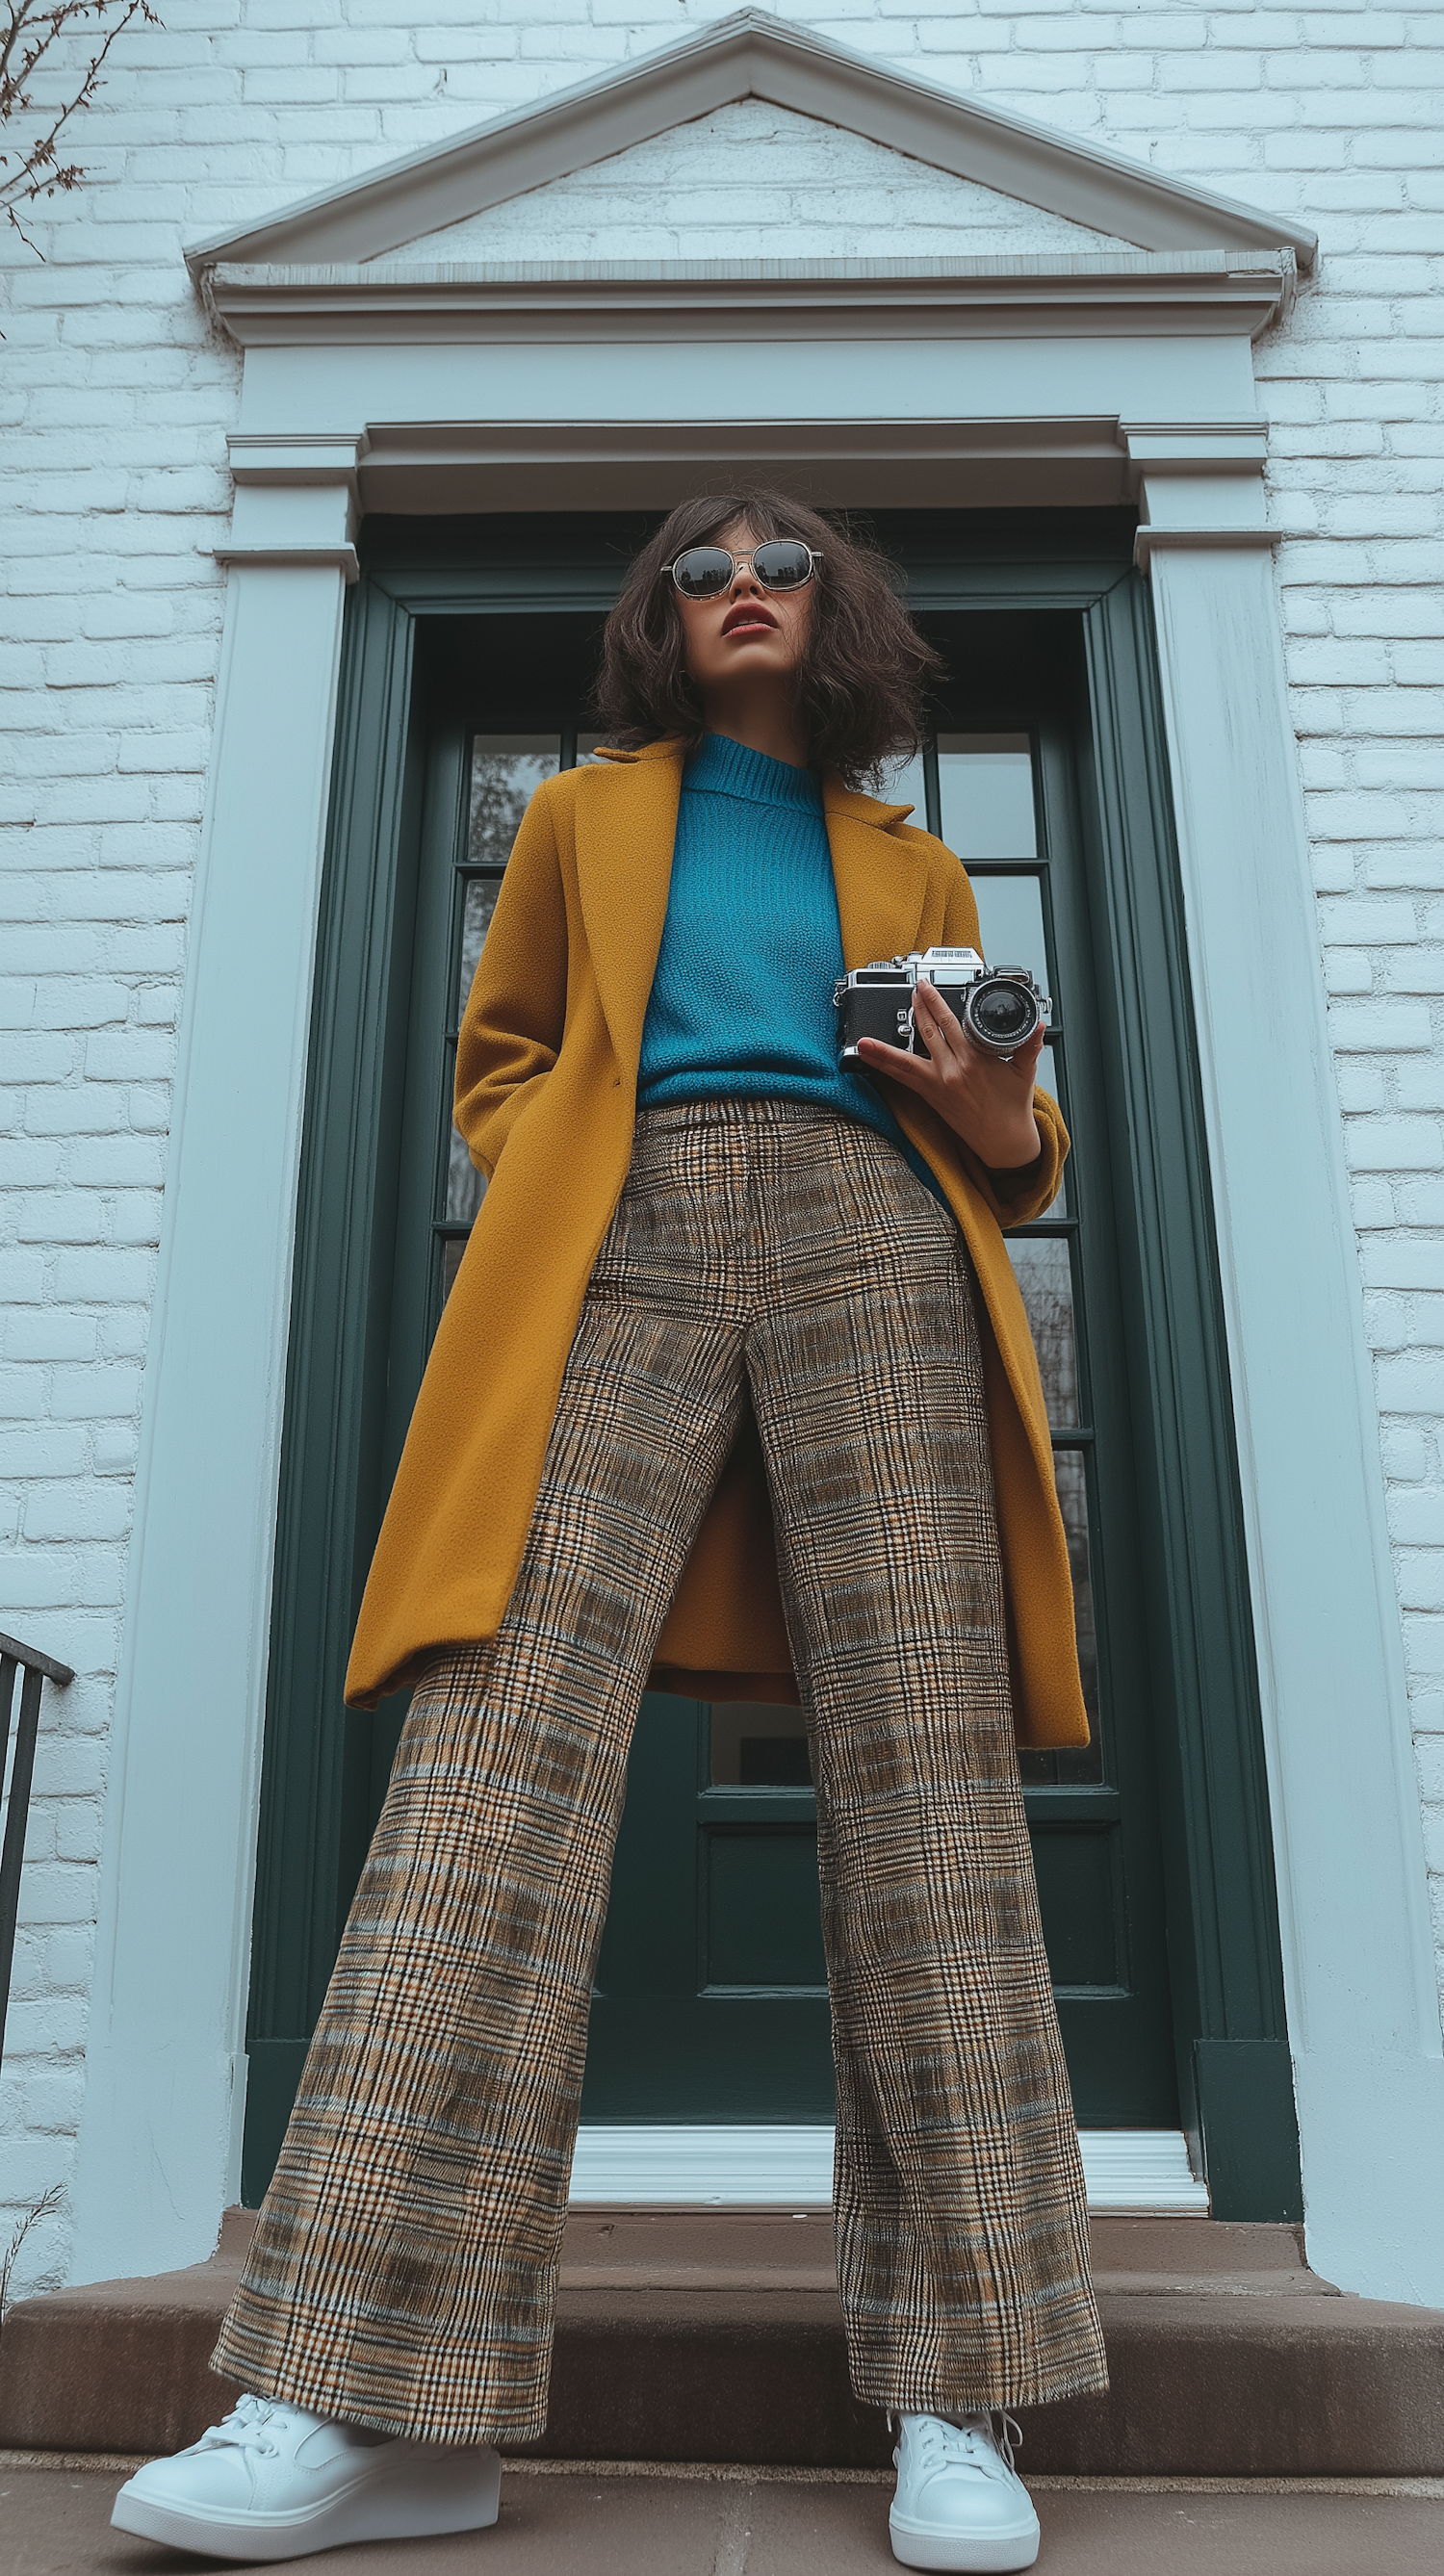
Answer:
[[[227,580],[111,1734],[77,2282],[203,2262],[239,2182],[340,623],[335,569],[247,562]]]

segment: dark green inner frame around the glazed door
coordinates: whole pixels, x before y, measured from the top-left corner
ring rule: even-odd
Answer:
[[[888,531],[901,533],[896,515]],[[929,513],[909,546],[916,608],[1050,608],[1084,636],[1109,1154],[1130,1340],[1143,1592],[1156,1605],[1158,1772],[1176,2081],[1220,2218],[1300,2218],[1264,1736],[1181,889],[1148,585],[1135,518]],[[371,1772],[342,1674],[384,1510],[378,1352],[389,1340],[402,1066],[420,855],[417,623],[512,605],[602,608],[623,544],[602,520],[371,520],[347,603],[337,778],[322,886],[309,1105],[270,1633],[247,2027],[247,2161],[257,2200],[291,2107],[345,1906],[342,1852]],[[1091,793],[1089,793],[1091,786]],[[1163,1005],[1161,1005],[1161,997]],[[381,1151],[373,1149],[381,1141]],[[391,1141],[391,1144],[389,1144]],[[1130,1239],[1138,1257],[1130,1260]],[[345,1502],[340,1499],[345,1497]],[[1181,1507],[1179,1497],[1187,1497]]]

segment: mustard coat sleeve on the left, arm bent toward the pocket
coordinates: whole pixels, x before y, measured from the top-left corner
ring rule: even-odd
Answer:
[[[546,781],[523,814],[456,1041],[456,1126],[492,1177],[561,1051],[566,894]]]

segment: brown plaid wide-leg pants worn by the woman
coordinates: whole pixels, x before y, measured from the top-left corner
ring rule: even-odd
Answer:
[[[435,2442],[546,2424],[628,1741],[752,1391],[811,1723],[855,2393],[1104,2388],[952,1218],[782,1100],[638,1118],[497,1638],[438,1656],[214,2367]]]

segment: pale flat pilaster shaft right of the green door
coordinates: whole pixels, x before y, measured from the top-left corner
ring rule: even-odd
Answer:
[[[1259,538],[1158,531],[1153,608],[1305,2228],[1315,2272],[1344,2290],[1444,2306],[1423,1829],[1297,750]]]

